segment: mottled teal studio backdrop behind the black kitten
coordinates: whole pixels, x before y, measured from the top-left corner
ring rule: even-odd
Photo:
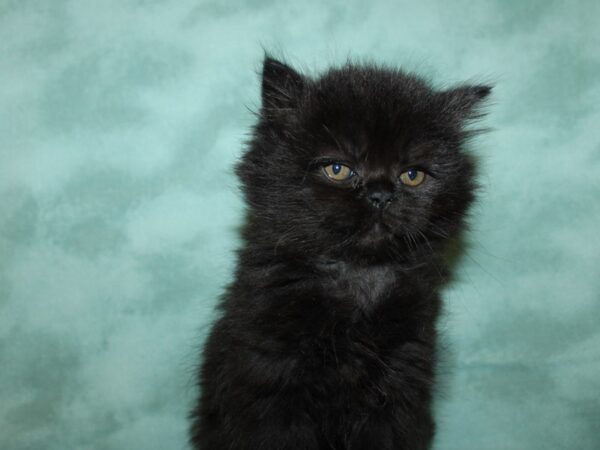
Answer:
[[[600,2],[0,0],[0,448],[185,449],[262,47],[496,88],[436,450],[600,448]]]

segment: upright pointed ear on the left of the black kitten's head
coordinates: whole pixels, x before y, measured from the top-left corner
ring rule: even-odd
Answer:
[[[298,72],[270,56],[265,56],[262,73],[262,104],[265,109],[293,108],[305,80]]]

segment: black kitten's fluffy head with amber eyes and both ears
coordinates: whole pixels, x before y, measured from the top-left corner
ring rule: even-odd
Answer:
[[[277,251],[351,260],[399,259],[451,238],[473,198],[465,126],[490,90],[436,91],[370,65],[309,78],[267,57],[238,166],[247,233]]]

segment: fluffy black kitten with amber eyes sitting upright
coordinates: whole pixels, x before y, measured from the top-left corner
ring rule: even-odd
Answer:
[[[200,371],[203,450],[427,449],[444,254],[473,199],[461,146],[487,86],[319,78],[266,58],[237,173],[235,280]]]

